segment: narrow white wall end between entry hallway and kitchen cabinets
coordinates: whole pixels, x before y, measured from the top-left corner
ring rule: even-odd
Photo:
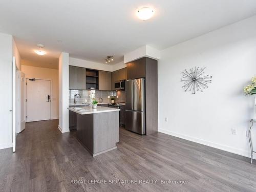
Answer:
[[[62,133],[69,132],[69,54],[59,56],[59,125]]]

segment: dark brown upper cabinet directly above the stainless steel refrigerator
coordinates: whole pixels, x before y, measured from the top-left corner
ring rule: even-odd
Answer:
[[[127,63],[126,76],[127,79],[137,79],[145,77],[145,57]]]

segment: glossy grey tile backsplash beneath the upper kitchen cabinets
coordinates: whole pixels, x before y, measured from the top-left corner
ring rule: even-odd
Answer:
[[[77,98],[78,103],[90,102],[90,90],[69,90],[69,103],[74,103],[74,95],[78,93],[81,98]],[[108,98],[110,96],[110,98]],[[111,98],[115,99],[115,102],[125,102],[125,91],[95,91],[95,99],[99,101],[99,98],[103,99],[103,102],[111,102]]]

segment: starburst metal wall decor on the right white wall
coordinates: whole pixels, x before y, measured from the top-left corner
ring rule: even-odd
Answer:
[[[204,75],[205,68],[195,67],[191,68],[189,72],[185,69],[183,78],[181,81],[184,81],[182,88],[185,91],[192,91],[192,94],[196,94],[196,91],[203,92],[203,89],[208,88],[208,83],[211,83],[212,76]]]

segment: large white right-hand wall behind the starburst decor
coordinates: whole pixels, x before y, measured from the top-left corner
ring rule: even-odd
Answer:
[[[160,132],[249,156],[253,97],[245,96],[243,87],[256,76],[255,24],[256,16],[161,51]],[[206,67],[213,78],[208,89],[192,95],[181,88],[181,73],[195,66]]]

